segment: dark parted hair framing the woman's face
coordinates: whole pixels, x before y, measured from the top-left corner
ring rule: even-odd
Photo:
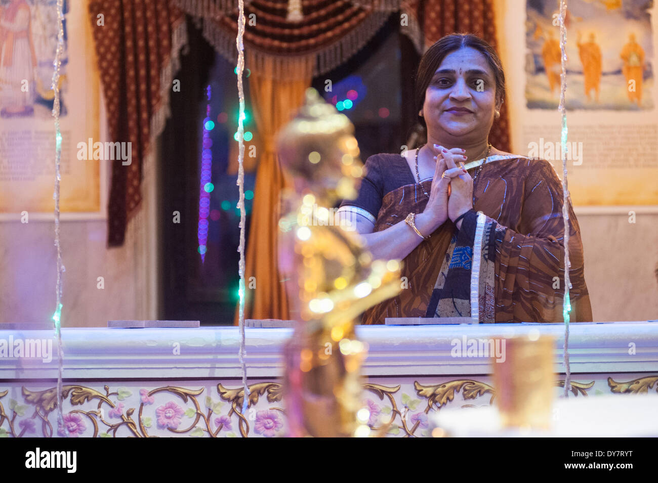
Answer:
[[[424,118],[418,116],[418,112],[422,109],[425,103],[425,91],[427,90],[434,73],[443,62],[445,56],[449,53],[457,51],[462,47],[472,47],[476,51],[482,53],[486,58],[489,66],[493,71],[495,78],[495,97],[496,101],[502,103],[505,100],[505,74],[503,73],[503,65],[500,58],[491,45],[486,41],[480,39],[477,35],[472,34],[450,34],[445,35],[427,49],[426,53],[420,58],[416,80],[414,85],[414,100],[416,104],[416,116],[418,122],[427,129]]]

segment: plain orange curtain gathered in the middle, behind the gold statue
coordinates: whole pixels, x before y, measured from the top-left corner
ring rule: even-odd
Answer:
[[[247,65],[256,64],[252,56],[245,50]],[[285,284],[276,262],[279,195],[284,187],[275,148],[276,134],[303,103],[304,92],[311,86],[314,60],[313,57],[290,60],[291,75],[282,79],[274,75],[275,60],[264,58],[261,68],[252,70],[249,76],[253,117],[263,139],[263,149],[258,155],[256,196],[245,260],[245,319],[290,318]],[[249,277],[255,277],[255,289],[249,288]]]

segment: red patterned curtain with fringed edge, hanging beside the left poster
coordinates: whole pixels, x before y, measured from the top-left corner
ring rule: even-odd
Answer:
[[[108,205],[109,246],[120,246],[136,212],[151,140],[164,128],[184,15],[170,0],[90,0],[111,141],[131,143],[132,162],[113,161]],[[172,62],[173,61],[173,62]]]

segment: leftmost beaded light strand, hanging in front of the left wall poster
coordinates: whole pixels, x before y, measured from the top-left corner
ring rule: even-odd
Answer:
[[[62,157],[62,133],[59,129],[59,77],[62,66],[62,55],[64,51],[64,12],[63,0],[57,0],[57,50],[55,51],[55,60],[53,60],[53,83],[52,89],[55,93],[53,100],[53,117],[55,118],[55,246],[57,247],[57,285],[55,287],[55,295],[57,302],[55,303],[55,313],[53,314],[53,322],[55,322],[55,338],[57,338],[57,359],[59,366],[57,367],[57,422],[58,426],[62,428],[64,436],[68,437],[68,428],[64,425],[64,413],[62,409],[62,373],[64,369],[64,351],[62,349],[62,333],[61,333],[61,319],[62,319],[62,285],[64,283],[64,265],[62,263],[62,246],[59,234],[59,184],[62,180],[60,173],[60,161]]]

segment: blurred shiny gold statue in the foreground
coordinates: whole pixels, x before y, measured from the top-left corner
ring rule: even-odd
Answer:
[[[309,88],[278,135],[288,179],[278,260],[299,322],[284,348],[290,436],[372,436],[359,413],[367,347],[354,325],[364,310],[399,292],[400,264],[372,260],[351,223],[336,216],[334,205],[355,198],[363,175],[353,131],[347,116]]]

